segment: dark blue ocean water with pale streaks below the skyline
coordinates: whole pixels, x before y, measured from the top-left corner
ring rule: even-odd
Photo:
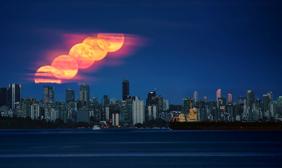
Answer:
[[[0,130],[0,167],[282,167],[282,132]]]

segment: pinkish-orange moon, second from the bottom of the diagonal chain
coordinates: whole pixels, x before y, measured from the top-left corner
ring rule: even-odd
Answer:
[[[55,58],[51,66],[58,69],[60,73],[54,73],[58,79],[72,79],[78,71],[78,64],[68,55],[61,55]]]

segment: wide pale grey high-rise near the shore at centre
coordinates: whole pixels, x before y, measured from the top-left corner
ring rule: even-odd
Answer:
[[[132,102],[132,124],[145,122],[145,109],[143,100],[133,100]]]

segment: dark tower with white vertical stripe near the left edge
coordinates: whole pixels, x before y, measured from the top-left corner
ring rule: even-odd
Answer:
[[[21,84],[9,84],[9,104],[12,110],[15,109],[15,103],[21,101]]]

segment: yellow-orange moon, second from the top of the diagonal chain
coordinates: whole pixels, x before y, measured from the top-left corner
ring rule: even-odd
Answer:
[[[99,61],[107,55],[108,51],[101,49],[101,47],[98,45],[98,41],[101,43],[106,43],[104,39],[98,38],[98,37],[87,37],[85,40],[83,40],[83,44],[90,45],[96,54],[95,61]]]

